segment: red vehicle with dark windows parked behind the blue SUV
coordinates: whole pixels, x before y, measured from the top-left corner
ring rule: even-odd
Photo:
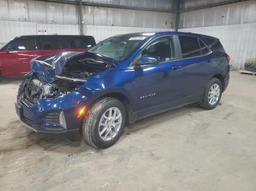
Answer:
[[[39,55],[84,52],[94,47],[93,36],[34,35],[12,39],[0,50],[0,80],[30,71],[30,61]]]

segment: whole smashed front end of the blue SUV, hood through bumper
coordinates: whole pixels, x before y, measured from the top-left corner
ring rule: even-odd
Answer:
[[[89,77],[114,66],[115,61],[91,52],[34,59],[18,90],[15,105],[20,120],[37,132],[79,128],[82,119],[77,111],[88,101],[79,88]]]

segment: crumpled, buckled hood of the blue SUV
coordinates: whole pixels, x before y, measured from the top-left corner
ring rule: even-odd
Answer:
[[[53,82],[55,76],[59,76],[63,72],[67,73],[70,68],[95,73],[110,69],[110,67],[116,66],[117,63],[112,58],[94,52],[64,52],[34,58],[31,61],[31,71],[45,82],[50,83]]]

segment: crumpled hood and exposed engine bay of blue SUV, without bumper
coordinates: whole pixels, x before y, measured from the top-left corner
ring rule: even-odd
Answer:
[[[58,98],[76,90],[87,79],[116,66],[116,61],[91,52],[69,52],[36,58],[26,74],[18,99],[35,104],[39,99]]]

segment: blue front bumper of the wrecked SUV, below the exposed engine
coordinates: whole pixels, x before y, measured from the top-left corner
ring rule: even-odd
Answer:
[[[83,117],[78,118],[77,111],[85,104],[86,96],[74,91],[61,98],[38,100],[34,105],[18,99],[15,109],[21,122],[37,133],[68,133],[80,130]]]

